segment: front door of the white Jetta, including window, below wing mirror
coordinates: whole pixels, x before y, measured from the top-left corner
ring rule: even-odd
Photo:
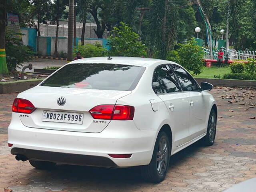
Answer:
[[[189,132],[191,140],[206,132],[206,97],[194,78],[180,66],[172,65],[184,92],[189,94]]]

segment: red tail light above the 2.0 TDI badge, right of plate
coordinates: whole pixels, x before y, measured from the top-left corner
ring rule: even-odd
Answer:
[[[94,119],[133,120],[134,107],[128,105],[98,105],[89,112]]]

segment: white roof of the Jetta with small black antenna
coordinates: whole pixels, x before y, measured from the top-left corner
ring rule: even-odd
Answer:
[[[160,60],[160,59],[152,59],[152,58],[141,58],[141,57],[111,57],[111,60],[108,60],[108,57],[91,57],[78,59],[70,62],[70,64],[75,63],[106,63],[106,64],[122,64],[122,65],[136,65],[148,67],[154,64],[176,64],[175,62]]]

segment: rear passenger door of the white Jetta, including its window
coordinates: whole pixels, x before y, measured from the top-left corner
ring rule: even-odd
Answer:
[[[161,65],[155,69],[152,88],[169,111],[175,146],[188,142],[188,95],[182,92],[169,65]]]

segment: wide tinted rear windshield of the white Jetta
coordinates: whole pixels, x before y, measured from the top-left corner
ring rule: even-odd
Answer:
[[[145,67],[120,64],[69,64],[50,76],[41,86],[133,90],[145,69]]]

